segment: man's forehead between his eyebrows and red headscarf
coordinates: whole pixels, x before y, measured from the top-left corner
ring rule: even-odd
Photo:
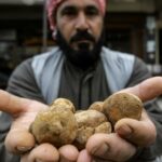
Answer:
[[[96,0],[65,0],[58,8],[58,10],[64,9],[66,6],[76,6],[76,8],[86,8],[86,6],[95,6],[99,10],[98,3]]]

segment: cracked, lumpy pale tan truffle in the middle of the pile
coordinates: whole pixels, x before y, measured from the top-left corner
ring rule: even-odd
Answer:
[[[83,110],[75,114],[78,131],[73,145],[83,149],[90,136],[95,133],[111,133],[111,124],[104,113],[97,110]]]

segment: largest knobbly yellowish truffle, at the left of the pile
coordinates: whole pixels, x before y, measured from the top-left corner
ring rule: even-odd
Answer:
[[[71,144],[76,138],[78,125],[73,110],[68,109],[69,104],[66,106],[66,102],[56,103],[48,110],[39,112],[30,126],[38,144],[51,143],[60,147]]]

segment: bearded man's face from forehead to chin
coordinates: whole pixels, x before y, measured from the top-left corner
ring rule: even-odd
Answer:
[[[57,9],[56,26],[72,50],[93,51],[103,31],[103,15],[95,0],[66,0]]]

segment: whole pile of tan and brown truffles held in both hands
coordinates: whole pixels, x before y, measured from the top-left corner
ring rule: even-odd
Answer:
[[[104,102],[95,102],[87,110],[80,111],[75,110],[70,100],[57,98],[49,109],[37,114],[30,132],[38,144],[51,143],[57,148],[72,144],[80,150],[93,134],[111,133],[118,120],[139,120],[141,110],[141,100],[129,93],[112,94]]]

